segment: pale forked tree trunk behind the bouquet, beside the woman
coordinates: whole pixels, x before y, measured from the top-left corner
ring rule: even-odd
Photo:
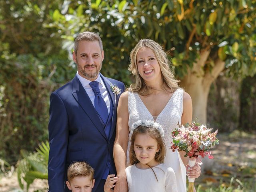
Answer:
[[[211,70],[204,71],[204,66],[208,60],[210,50],[203,50],[200,58],[196,60],[192,69],[188,68],[188,74],[180,81],[180,86],[184,88],[192,98],[193,117],[192,120],[206,124],[207,100],[212,82],[224,69],[225,62],[217,58]]]

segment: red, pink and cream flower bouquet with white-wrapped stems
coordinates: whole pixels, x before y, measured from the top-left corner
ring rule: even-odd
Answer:
[[[189,166],[194,166],[196,163],[196,157],[199,155],[204,158],[208,156],[212,159],[212,152],[209,150],[219,144],[219,140],[216,138],[218,130],[211,132],[211,128],[207,128],[206,125],[200,125],[196,122],[191,122],[185,126],[178,124],[178,127],[172,132],[172,146],[170,149],[186,152],[185,157],[189,156]],[[188,178],[189,192],[193,192],[194,178]]]

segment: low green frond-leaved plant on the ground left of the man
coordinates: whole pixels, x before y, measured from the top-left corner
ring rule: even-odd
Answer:
[[[21,150],[24,157],[17,164],[18,182],[22,190],[28,191],[30,184],[36,178],[48,179],[48,155],[49,155],[49,142],[42,142],[39,144],[36,152],[31,154]]]

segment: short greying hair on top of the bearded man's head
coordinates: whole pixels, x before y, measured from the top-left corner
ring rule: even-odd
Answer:
[[[86,31],[78,34],[75,38],[74,52],[77,54],[78,43],[80,41],[98,41],[100,45],[100,50],[103,51],[102,40],[100,36],[94,32]]]

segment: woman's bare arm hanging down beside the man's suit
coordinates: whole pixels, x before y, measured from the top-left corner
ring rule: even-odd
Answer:
[[[114,192],[127,192],[128,186],[126,181],[126,151],[129,138],[129,113],[128,113],[128,92],[120,96],[117,108],[116,122],[116,140],[114,143],[114,161],[118,181],[116,182]]]

